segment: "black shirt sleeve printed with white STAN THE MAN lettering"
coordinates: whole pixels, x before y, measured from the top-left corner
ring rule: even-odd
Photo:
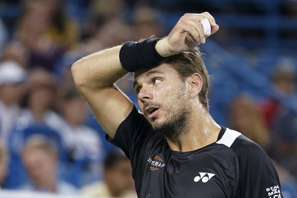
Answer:
[[[242,135],[231,147],[237,147],[240,197],[281,198],[277,171],[265,151]]]

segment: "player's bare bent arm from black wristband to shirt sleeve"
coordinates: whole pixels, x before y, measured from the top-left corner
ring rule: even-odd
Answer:
[[[128,72],[121,66],[121,46],[81,58],[71,67],[78,91],[90,105],[105,132],[113,137],[116,129],[129,115],[132,102],[113,84]]]

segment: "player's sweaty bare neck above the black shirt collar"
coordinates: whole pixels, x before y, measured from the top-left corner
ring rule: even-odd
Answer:
[[[194,151],[217,141],[221,127],[205,110],[193,110],[190,117],[190,130],[176,140],[167,139],[174,151]]]

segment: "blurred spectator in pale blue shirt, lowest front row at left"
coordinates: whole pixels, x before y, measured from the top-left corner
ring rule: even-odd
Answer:
[[[22,153],[30,180],[20,189],[74,195],[77,191],[75,187],[58,177],[58,156],[56,142],[40,134],[31,135]]]

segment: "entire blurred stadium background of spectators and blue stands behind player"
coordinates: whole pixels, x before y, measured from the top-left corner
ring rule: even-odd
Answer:
[[[210,113],[258,143],[296,198],[296,0],[0,0],[0,197],[137,197],[70,67],[206,11],[220,27],[200,45]],[[138,106],[132,77],[118,86]]]

